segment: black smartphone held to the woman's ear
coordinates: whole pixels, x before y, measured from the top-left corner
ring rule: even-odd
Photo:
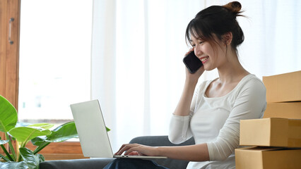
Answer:
[[[194,54],[194,51],[191,51],[187,56],[185,56],[183,58],[183,62],[189,72],[192,74],[196,73],[196,71],[199,70],[199,68],[201,68],[201,66],[203,65],[203,63],[201,63],[201,60]]]

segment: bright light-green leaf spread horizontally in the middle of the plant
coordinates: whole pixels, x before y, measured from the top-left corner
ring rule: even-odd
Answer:
[[[15,127],[8,133],[15,137],[18,142],[27,142],[35,137],[51,134],[51,131],[41,127]]]

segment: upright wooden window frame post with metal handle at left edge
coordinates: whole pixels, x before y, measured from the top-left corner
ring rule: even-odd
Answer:
[[[20,0],[0,1],[0,94],[18,108]],[[11,40],[10,42],[8,40]],[[6,139],[3,132],[0,136]],[[16,144],[14,144],[16,145]],[[8,149],[8,145],[4,145]],[[0,150],[3,153],[2,149]]]

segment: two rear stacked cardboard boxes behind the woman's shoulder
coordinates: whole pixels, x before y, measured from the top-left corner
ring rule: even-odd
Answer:
[[[263,77],[266,86],[264,118],[301,119],[301,71]]]

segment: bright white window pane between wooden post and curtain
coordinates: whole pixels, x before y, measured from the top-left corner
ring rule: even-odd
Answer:
[[[93,1],[21,1],[19,121],[61,125],[90,99]]]

